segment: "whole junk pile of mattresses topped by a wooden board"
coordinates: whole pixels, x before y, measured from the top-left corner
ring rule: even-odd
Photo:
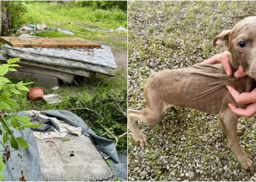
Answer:
[[[45,28],[43,24],[38,27]],[[18,72],[9,72],[7,77],[29,76],[51,88],[72,84],[79,77],[114,76],[117,67],[111,47],[82,38],[41,38],[31,35],[28,28],[35,29],[22,27],[19,37],[1,37],[7,44],[0,47],[0,62],[21,58],[18,64],[22,67],[17,68]]]

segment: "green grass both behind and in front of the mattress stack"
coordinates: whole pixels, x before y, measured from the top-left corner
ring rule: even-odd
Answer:
[[[127,27],[127,15],[119,9],[101,10],[90,7],[76,6],[75,2],[24,2],[27,12],[22,15],[19,24],[45,22],[49,27],[69,29],[75,35],[59,33],[48,30],[36,33],[40,37],[81,37],[100,42],[111,47],[117,47],[126,52],[126,33],[102,33],[94,30],[117,29],[119,26]],[[19,34],[15,34],[19,36]],[[120,50],[119,49],[119,50]],[[17,80],[12,79],[13,82]],[[26,78],[24,82],[31,81]],[[35,81],[36,82],[36,81]],[[16,95],[20,105],[14,111],[22,110],[69,110],[80,116],[99,136],[114,140],[106,129],[115,136],[127,130],[127,75],[121,68],[115,77],[100,76],[95,79],[80,79],[79,86],[65,85],[57,91],[45,89],[45,94],[57,93],[62,98],[62,103],[47,104],[45,101],[32,102],[26,98],[26,92]],[[31,84],[28,88],[40,86]],[[127,149],[127,137],[119,139],[118,153]]]

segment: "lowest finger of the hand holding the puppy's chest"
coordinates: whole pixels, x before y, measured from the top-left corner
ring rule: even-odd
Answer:
[[[256,103],[252,103],[248,105],[245,109],[237,107],[232,103],[228,103],[228,106],[237,115],[245,116],[245,117],[252,117],[256,113]]]

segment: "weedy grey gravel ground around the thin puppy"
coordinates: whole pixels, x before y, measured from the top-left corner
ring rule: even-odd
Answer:
[[[128,101],[143,109],[143,86],[154,72],[190,67],[220,53],[214,36],[254,15],[256,2],[128,2]],[[168,110],[163,121],[139,122],[147,135],[145,148],[135,146],[128,133],[129,181],[255,181],[227,148],[225,134],[216,128],[217,115],[190,108]],[[256,161],[255,118],[240,118],[246,127],[240,143]]]

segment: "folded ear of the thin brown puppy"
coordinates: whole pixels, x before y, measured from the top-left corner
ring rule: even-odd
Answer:
[[[213,47],[217,47],[219,49],[228,49],[228,36],[231,30],[224,30],[219,35],[213,38]]]

